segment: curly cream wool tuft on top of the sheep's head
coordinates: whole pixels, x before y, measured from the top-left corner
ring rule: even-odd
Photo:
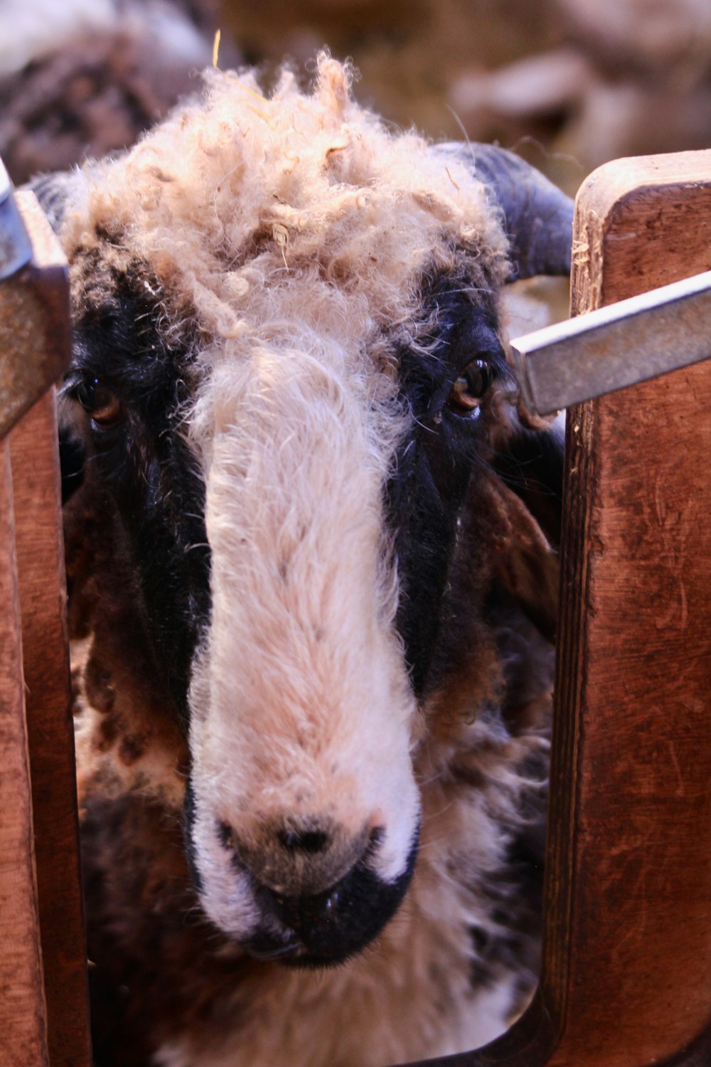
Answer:
[[[285,71],[266,99],[248,71],[207,71],[200,100],[85,170],[65,244],[125,234],[225,340],[278,315],[289,271],[316,284],[304,312],[320,330],[327,286],[360,294],[382,321],[407,321],[423,266],[451,268],[454,244],[501,282],[507,243],[482,184],[418,134],[388,131],[352,99],[351,79],[322,53],[312,93]]]

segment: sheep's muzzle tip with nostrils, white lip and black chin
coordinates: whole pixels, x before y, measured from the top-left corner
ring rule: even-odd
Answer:
[[[263,821],[248,843],[185,807],[193,875],[208,913],[253,956],[289,966],[329,967],[361,952],[400,907],[418,854],[419,819],[394,877],[384,875],[390,843],[371,818],[355,835],[333,821]],[[195,859],[197,862],[195,862]],[[207,869],[207,877],[204,872]]]

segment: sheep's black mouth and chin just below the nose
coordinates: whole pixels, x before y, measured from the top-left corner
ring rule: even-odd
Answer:
[[[257,959],[302,969],[337,967],[357,956],[400,908],[415,871],[418,844],[419,827],[405,870],[393,881],[384,881],[359,862],[332,889],[313,896],[287,897],[255,887],[262,923],[244,949]]]

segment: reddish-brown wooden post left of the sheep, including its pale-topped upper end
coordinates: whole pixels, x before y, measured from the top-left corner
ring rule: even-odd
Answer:
[[[17,201],[34,255],[0,288],[0,436],[14,427],[0,441],[0,1065],[88,1067],[51,388],[69,357],[68,275],[34,196]]]

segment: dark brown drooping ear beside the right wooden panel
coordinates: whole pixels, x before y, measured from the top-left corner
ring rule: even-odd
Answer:
[[[540,632],[553,640],[558,620],[563,497],[563,433],[517,430],[495,460],[508,530],[498,575]]]

